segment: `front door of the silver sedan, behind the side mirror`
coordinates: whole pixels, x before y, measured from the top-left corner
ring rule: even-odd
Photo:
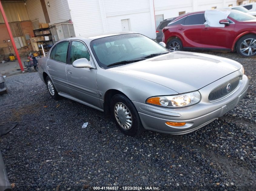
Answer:
[[[100,107],[98,88],[96,83],[96,68],[75,68],[72,63],[80,58],[92,62],[90,53],[81,41],[72,41],[70,46],[69,64],[66,67],[70,94],[86,103]],[[94,66],[92,62],[92,66]]]

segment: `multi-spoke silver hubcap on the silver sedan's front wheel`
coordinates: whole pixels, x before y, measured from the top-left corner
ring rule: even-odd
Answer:
[[[118,102],[114,107],[115,119],[118,124],[125,130],[129,130],[132,127],[131,113],[125,104]]]

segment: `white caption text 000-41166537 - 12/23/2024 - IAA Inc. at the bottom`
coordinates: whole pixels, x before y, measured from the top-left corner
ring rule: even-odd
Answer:
[[[94,186],[93,190],[159,190],[155,186]]]

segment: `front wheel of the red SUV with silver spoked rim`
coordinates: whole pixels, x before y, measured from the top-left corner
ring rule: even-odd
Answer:
[[[251,48],[251,46],[254,46],[254,49]],[[248,34],[241,37],[236,43],[236,51],[241,57],[244,58],[256,57],[256,35]]]

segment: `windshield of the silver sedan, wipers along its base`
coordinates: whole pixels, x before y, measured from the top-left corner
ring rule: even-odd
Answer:
[[[129,64],[169,51],[141,34],[121,34],[91,41],[91,49],[102,68]]]

